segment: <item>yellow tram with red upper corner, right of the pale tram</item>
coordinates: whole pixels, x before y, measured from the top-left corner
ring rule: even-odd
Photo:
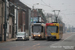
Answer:
[[[46,39],[61,39],[63,36],[63,25],[59,23],[46,23]]]

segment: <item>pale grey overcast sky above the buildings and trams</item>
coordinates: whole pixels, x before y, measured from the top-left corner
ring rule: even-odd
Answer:
[[[20,0],[30,8],[43,9],[44,13],[52,13],[53,10],[60,10],[59,16],[67,27],[75,27],[75,0]],[[39,3],[37,5],[36,3]],[[56,13],[57,14],[57,13]]]

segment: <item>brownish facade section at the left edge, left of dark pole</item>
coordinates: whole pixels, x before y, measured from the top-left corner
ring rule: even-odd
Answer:
[[[0,0],[0,41],[4,39],[4,1]]]

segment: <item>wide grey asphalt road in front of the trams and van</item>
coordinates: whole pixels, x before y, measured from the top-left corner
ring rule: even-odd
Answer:
[[[0,43],[0,50],[75,50],[75,34],[66,33],[62,40],[10,41]]]

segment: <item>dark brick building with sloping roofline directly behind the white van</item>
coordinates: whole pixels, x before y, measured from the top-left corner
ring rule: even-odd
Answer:
[[[22,3],[20,0],[13,1],[16,6],[19,7],[18,10],[18,31],[25,31],[29,33],[30,26],[30,12],[31,8]]]

